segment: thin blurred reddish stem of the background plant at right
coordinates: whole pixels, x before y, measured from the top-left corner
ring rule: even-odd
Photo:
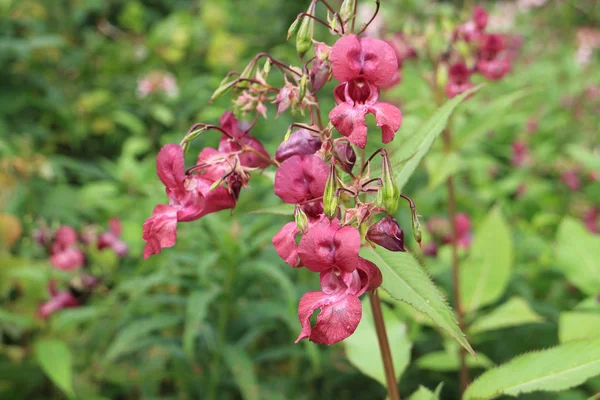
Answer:
[[[446,154],[452,151],[452,133],[449,128],[442,132],[444,139],[444,151]],[[458,327],[461,331],[465,331],[465,313],[463,310],[462,301],[460,298],[460,261],[458,259],[458,230],[456,226],[456,197],[454,193],[454,178],[448,177],[446,181],[446,191],[448,192],[448,218],[452,227],[452,297],[454,298],[454,307],[458,319]],[[458,350],[460,360],[460,390],[461,393],[467,389],[469,384],[469,368],[467,367],[467,352],[464,347]]]

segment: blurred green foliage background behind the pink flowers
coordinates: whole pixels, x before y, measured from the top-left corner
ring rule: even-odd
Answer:
[[[389,32],[423,30],[444,16],[460,21],[473,4],[382,3]],[[289,268],[272,248],[273,234],[289,217],[249,213],[280,204],[272,194],[273,171],[253,176],[233,215],[181,224],[175,248],[141,259],[142,224],[166,200],[155,175],[158,149],[179,142],[194,122],[216,123],[229,99],[208,104],[212,91],[255,53],[269,51],[295,63],[293,41],[285,36],[307,5],[0,1],[0,398],[68,396],[69,389],[61,390],[52,383],[56,377],[44,373],[44,356],[36,351],[44,340],[67,344],[68,352],[50,360],[56,371],[67,371],[60,379],[72,383],[78,399],[205,399],[211,391],[215,399],[385,398],[385,388],[349,361],[346,346],[352,344],[293,344],[298,299],[317,290],[318,280]],[[581,279],[571,278],[570,264],[556,257],[561,245],[577,251],[557,239],[565,218],[563,231],[574,231],[563,232],[564,238],[586,241],[586,251],[600,247],[598,236],[581,223],[600,207],[594,175],[600,173],[600,5],[593,0],[483,5],[492,14],[491,29],[523,38],[513,72],[488,84],[455,115],[458,158],[440,161],[434,149],[405,188],[424,222],[444,216],[439,183],[443,171],[452,169],[458,175],[458,209],[472,218],[475,237],[493,205],[510,226],[515,254],[510,279],[501,297],[480,311],[518,297],[536,314],[529,322],[536,323],[472,339],[489,361],[475,366],[472,375],[558,343],[565,313],[582,302],[591,307],[586,309],[591,319],[578,324],[595,321],[600,332],[600,307],[594,303],[600,286],[582,286]],[[332,44],[324,30],[318,35]],[[430,72],[426,62],[407,62],[403,82],[387,94],[404,114],[395,146],[436,108],[422,79]],[[165,77],[167,89],[144,92],[144,84]],[[328,111],[333,100],[325,98],[324,104]],[[274,107],[268,116],[259,119],[253,135],[273,154],[294,120],[274,119]],[[526,143],[530,156],[518,166],[511,162],[517,140]],[[190,153],[217,142],[217,136],[207,136]],[[568,171],[579,179],[576,189],[565,184]],[[50,267],[32,232],[41,221],[105,228],[111,217],[122,221],[129,255],[92,254],[103,289],[83,307],[47,321],[38,318],[48,281],[66,282],[70,275]],[[408,210],[397,218],[409,230]],[[425,263],[449,292],[447,250]],[[597,259],[592,264],[598,271]],[[397,351],[405,365],[410,359],[400,380],[403,394],[444,382],[442,398],[457,399],[456,366],[444,358],[444,338],[402,308],[390,313],[388,325],[397,325],[401,336]],[[438,358],[423,361],[426,354]],[[565,393],[520,398],[585,400],[597,392],[600,381],[592,380]]]

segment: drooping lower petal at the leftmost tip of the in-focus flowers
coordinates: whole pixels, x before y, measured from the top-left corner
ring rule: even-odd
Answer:
[[[146,242],[144,259],[173,247],[177,241],[177,210],[164,204],[154,207],[152,216],[144,222],[142,239]]]

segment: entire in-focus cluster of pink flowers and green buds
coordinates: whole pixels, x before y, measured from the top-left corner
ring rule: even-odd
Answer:
[[[317,17],[317,4],[327,8],[327,21]],[[360,158],[356,154],[367,144],[367,114],[374,114],[381,141],[389,143],[400,128],[402,113],[380,101],[381,89],[399,79],[398,49],[383,40],[360,37],[368,24],[355,30],[355,14],[355,0],[344,0],[339,12],[325,0],[312,0],[290,27],[289,36],[296,35],[301,59],[311,47],[313,57],[295,67],[260,53],[242,72],[225,77],[211,100],[233,91],[236,114],[254,114],[256,121],[259,115],[266,117],[267,106],[274,104],[277,115],[299,111],[308,113],[310,122],[291,124],[274,158],[248,134],[253,123],[238,121],[232,112],[223,115],[220,126],[193,125],[180,144],[168,144],[158,154],[157,174],[169,204],[156,206],[143,229],[148,258],[175,244],[178,222],[234,208],[254,170],[276,167],[274,192],[294,205],[294,221],[273,237],[275,250],[292,267],[320,275],[321,290],[300,300],[298,340],[325,344],[354,332],[362,315],[359,297],[382,283],[378,267],[360,257],[361,246],[406,251],[404,233],[393,218],[400,198],[409,201],[413,234],[419,243],[421,238],[414,203],[400,193],[387,152],[379,149],[368,159],[364,151]],[[331,47],[314,40],[315,23],[339,36]],[[283,75],[283,87],[269,82],[272,70]],[[317,92],[332,78],[339,81],[329,94],[336,106],[329,112],[330,123],[324,124]],[[186,170],[184,154],[208,131],[222,134],[218,149],[204,148],[196,165]],[[336,138],[335,131],[342,137]],[[371,163],[378,156],[381,174],[372,177]],[[316,309],[321,312],[311,326]]]

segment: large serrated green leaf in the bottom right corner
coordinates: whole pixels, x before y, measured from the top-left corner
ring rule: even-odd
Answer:
[[[535,391],[559,391],[600,374],[600,338],[561,344],[518,356],[483,373],[466,390],[464,400],[487,400]]]

